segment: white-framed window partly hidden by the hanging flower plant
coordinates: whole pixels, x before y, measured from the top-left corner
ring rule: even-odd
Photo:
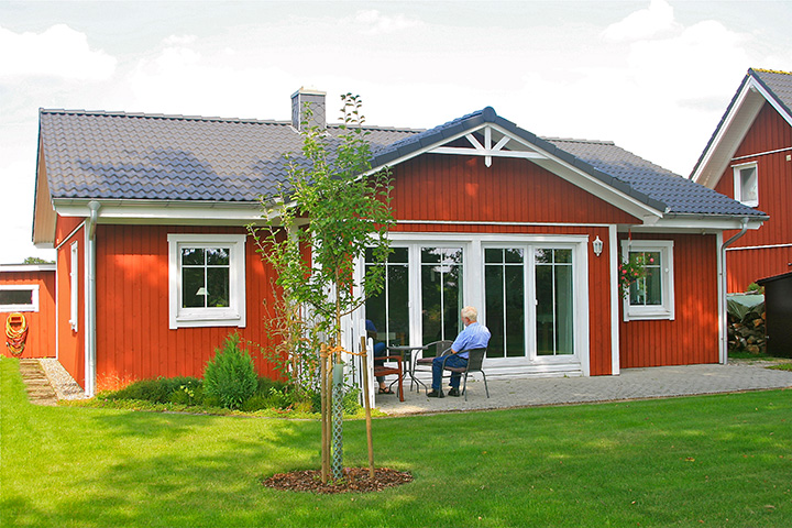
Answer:
[[[673,320],[673,242],[625,240],[622,254],[631,262],[642,257],[646,267],[646,276],[632,283],[625,298],[625,320]]]

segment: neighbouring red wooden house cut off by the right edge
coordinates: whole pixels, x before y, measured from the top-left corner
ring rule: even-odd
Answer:
[[[792,74],[749,69],[691,179],[770,220],[726,249],[728,292],[792,270]]]

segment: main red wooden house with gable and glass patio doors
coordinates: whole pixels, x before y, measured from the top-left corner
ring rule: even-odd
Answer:
[[[299,153],[306,100],[326,125],[323,94],[304,90],[287,122],[41,111],[34,241],[57,249],[57,356],[88,393],[200,375],[230,330],[267,340],[273,271],[243,226]],[[367,130],[373,166],[393,170],[397,224],[386,289],[348,321],[349,342],[363,318],[391,343],[453,338],[473,305],[493,332],[492,374],[724,360],[723,232],[757,229],[761,212],[492,108],[428,131]],[[652,263],[623,298],[626,253]]]

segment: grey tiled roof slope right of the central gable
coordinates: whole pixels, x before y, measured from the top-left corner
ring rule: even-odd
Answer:
[[[636,156],[609,141],[547,139],[630,187],[666,204],[676,215],[757,217],[765,213]]]

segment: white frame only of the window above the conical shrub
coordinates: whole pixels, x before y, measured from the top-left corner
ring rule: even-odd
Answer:
[[[245,321],[245,241],[244,234],[169,233],[168,241],[168,319],[177,328],[238,327]],[[182,248],[229,248],[229,306],[223,308],[182,307]]]

